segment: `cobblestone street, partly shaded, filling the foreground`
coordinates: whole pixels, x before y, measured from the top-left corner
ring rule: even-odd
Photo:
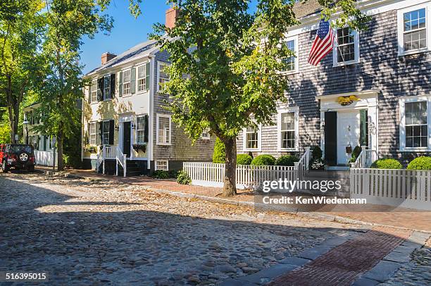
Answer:
[[[217,285],[368,230],[27,173],[0,173],[0,204],[0,271],[48,271],[56,285]],[[387,285],[430,281],[429,248],[412,257]]]

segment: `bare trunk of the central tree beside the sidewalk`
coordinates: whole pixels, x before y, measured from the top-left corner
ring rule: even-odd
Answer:
[[[223,197],[232,197],[237,194],[237,140],[236,138],[227,138],[225,143],[225,178],[223,180]]]

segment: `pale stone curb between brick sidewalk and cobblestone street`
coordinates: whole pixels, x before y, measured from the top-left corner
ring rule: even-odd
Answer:
[[[90,177],[85,177],[82,175],[72,175],[70,173],[66,173],[66,172],[54,172],[54,171],[50,171],[50,170],[35,170],[36,172],[39,173],[44,173],[46,175],[59,175],[59,176],[63,176],[65,178],[75,178],[75,179],[85,179],[85,180],[94,180],[94,178],[90,178]],[[353,218],[344,218],[343,216],[335,216],[335,215],[330,215],[330,214],[326,214],[326,213],[313,213],[313,212],[301,212],[301,211],[283,211],[283,209],[279,209],[279,208],[268,208],[268,205],[266,204],[261,204],[258,203],[256,204],[254,201],[239,201],[239,200],[234,200],[234,199],[222,199],[222,198],[216,198],[216,197],[208,197],[208,196],[204,196],[201,194],[188,194],[188,193],[184,193],[184,192],[176,192],[176,191],[169,191],[168,189],[157,189],[154,187],[148,187],[145,185],[142,185],[142,187],[149,189],[153,192],[159,192],[162,194],[170,194],[171,196],[174,197],[181,197],[181,198],[187,198],[187,199],[200,199],[202,201],[210,201],[213,203],[218,203],[218,204],[230,204],[233,206],[260,206],[260,207],[265,207],[266,209],[270,210],[270,211],[282,211],[283,213],[289,213],[292,215],[296,215],[296,216],[301,216],[304,218],[313,218],[316,220],[325,220],[325,221],[331,221],[331,222],[335,222],[335,223],[346,223],[346,224],[356,224],[356,225],[368,225],[371,227],[374,226],[383,226],[383,227],[388,227],[388,228],[398,228],[398,229],[402,229],[402,230],[414,230],[417,232],[424,232],[424,233],[431,233],[431,231],[425,231],[425,230],[416,230],[415,228],[404,228],[401,226],[394,226],[394,225],[384,225],[381,223],[368,223],[366,221],[363,220],[355,220]]]

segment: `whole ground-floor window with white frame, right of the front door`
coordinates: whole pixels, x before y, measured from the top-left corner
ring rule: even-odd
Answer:
[[[400,99],[400,149],[429,150],[431,146],[431,97]]]

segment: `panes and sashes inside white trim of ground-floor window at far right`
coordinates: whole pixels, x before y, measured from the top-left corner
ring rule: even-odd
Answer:
[[[427,147],[427,101],[406,102],[406,147]]]

